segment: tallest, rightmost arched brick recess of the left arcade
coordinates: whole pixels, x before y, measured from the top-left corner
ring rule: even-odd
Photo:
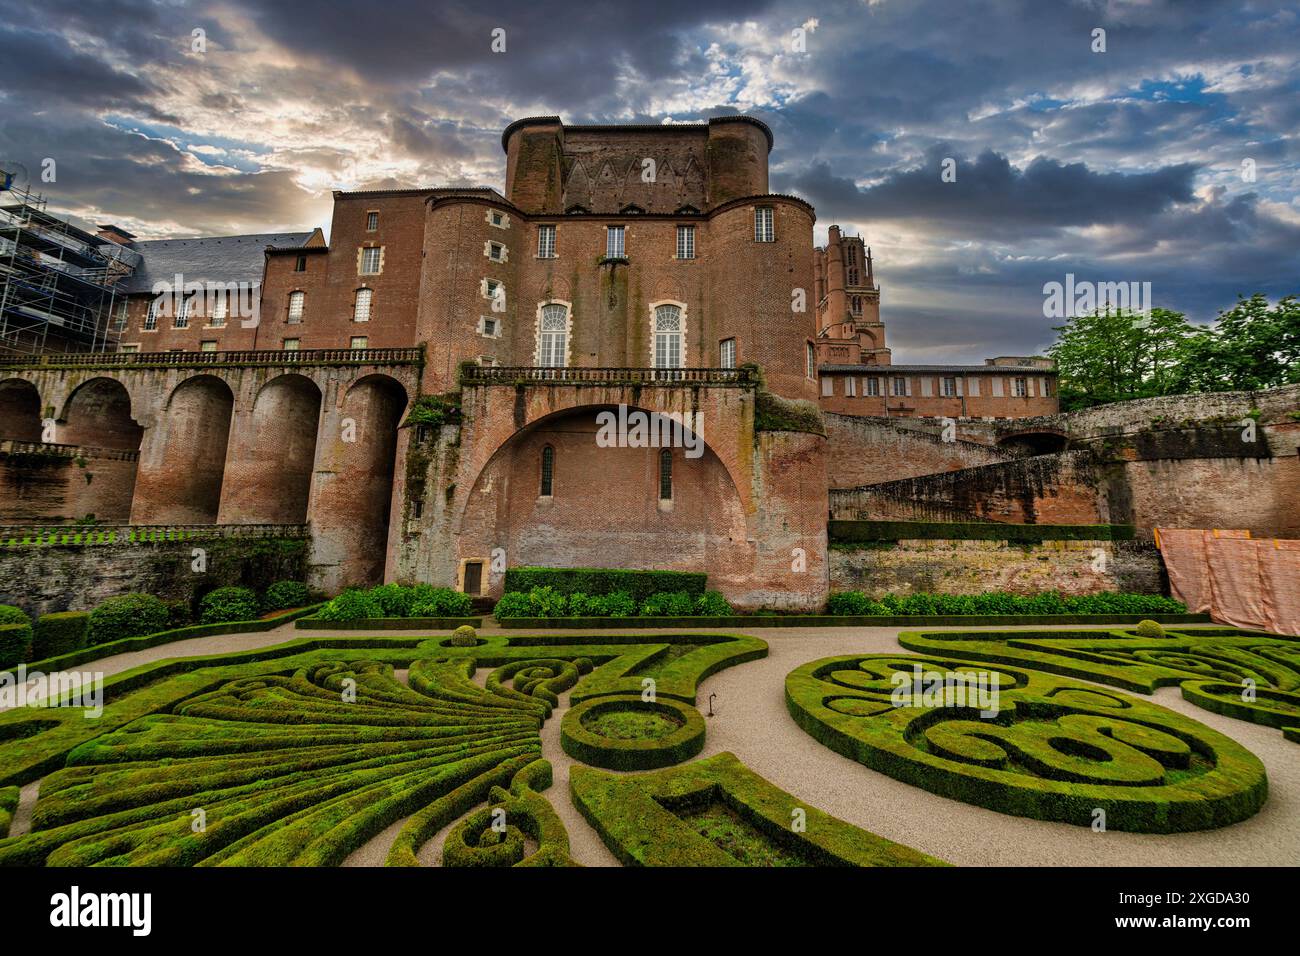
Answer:
[[[384,580],[398,425],[407,393],[386,375],[355,381],[337,412],[337,433],[325,433],[308,520],[317,558],[335,564],[344,584]],[[334,429],[332,428],[330,432]]]

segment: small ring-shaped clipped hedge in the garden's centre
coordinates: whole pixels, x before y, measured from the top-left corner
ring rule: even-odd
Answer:
[[[607,711],[646,711],[681,721],[681,726],[662,737],[607,737],[588,727],[586,721]],[[689,704],[668,697],[654,701],[640,695],[594,697],[564,713],[560,747],[569,757],[608,770],[658,770],[690,760],[705,749],[705,718]]]

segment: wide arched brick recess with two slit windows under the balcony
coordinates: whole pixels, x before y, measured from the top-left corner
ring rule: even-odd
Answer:
[[[672,498],[659,497],[658,447],[601,447],[601,411],[586,406],[516,432],[474,481],[462,512],[460,558],[506,550],[510,566],[703,571],[738,592],[753,572],[745,510],[712,449],[672,449]],[[707,436],[706,436],[707,437]],[[541,460],[555,450],[551,496]]]

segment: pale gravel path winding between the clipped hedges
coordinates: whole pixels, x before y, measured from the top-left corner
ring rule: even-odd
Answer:
[[[1286,741],[1278,730],[1201,710],[1184,701],[1178,688],[1164,688],[1154,700],[1232,737],[1264,761],[1269,774],[1269,801],[1251,819],[1222,830],[1144,835],[1117,831],[1098,834],[1088,827],[1010,817],[935,796],[868,770],[822,747],[794,724],[785,711],[784,700],[785,675],[789,671],[833,654],[909,653],[898,645],[900,630],[755,628],[751,633],[768,643],[768,656],[762,661],[724,670],[699,687],[701,713],[708,711],[708,696],[716,695],[715,715],[708,718],[708,736],[702,756],[731,750],[750,769],[777,787],[807,800],[811,806],[965,866],[1295,866],[1300,862],[1300,748]],[[701,628],[666,628],[663,632],[671,631],[702,632]],[[733,631],[734,628],[719,628],[724,633]],[[502,631],[485,627],[481,632]],[[645,632],[645,628],[608,631]],[[268,646],[294,637],[341,633],[299,631],[292,624],[285,624],[264,633],[177,641],[105,658],[84,669],[94,669],[108,676],[169,657],[214,654]],[[403,636],[394,631],[347,633]],[[536,633],[595,636],[592,631],[564,630]],[[488,672],[488,669],[480,669],[474,679],[482,683]],[[555,769],[555,783],[547,796],[568,827],[573,857],[589,866],[616,865],[614,855],[568,799],[568,771],[573,761],[559,745],[559,726],[567,702],[564,696],[562,706],[542,728],[543,753]],[[34,796],[35,787],[31,791]],[[27,797],[26,793],[23,796]],[[381,865],[400,826],[402,821],[374,836],[355,851],[344,865]],[[445,834],[446,830],[430,840],[420,855],[421,862],[437,865]]]

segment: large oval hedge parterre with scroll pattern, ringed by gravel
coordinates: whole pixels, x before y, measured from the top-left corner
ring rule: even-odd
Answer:
[[[997,691],[991,709],[987,697],[965,696],[976,676]],[[1118,691],[1032,670],[828,657],[785,678],[785,702],[800,727],[845,757],[1018,817],[1091,826],[1100,809],[1108,830],[1184,832],[1247,819],[1268,797],[1264,765],[1230,737]]]

